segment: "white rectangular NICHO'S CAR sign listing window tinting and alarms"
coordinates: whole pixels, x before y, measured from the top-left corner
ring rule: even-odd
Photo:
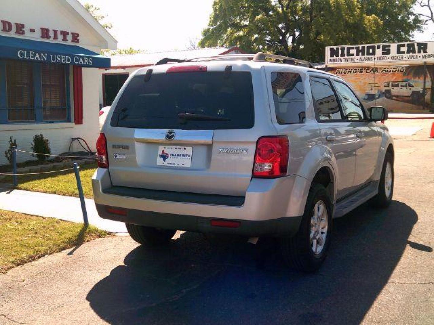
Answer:
[[[423,64],[434,62],[434,42],[327,46],[325,65]]]

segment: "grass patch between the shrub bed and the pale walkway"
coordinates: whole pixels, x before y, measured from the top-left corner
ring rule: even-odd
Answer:
[[[66,169],[67,167],[57,168]],[[86,198],[93,198],[91,178],[96,164],[80,167],[80,178]],[[9,176],[8,176],[9,178]],[[9,180],[11,182],[11,180]],[[54,174],[18,176],[18,189],[59,195],[79,196],[76,175],[73,170]]]

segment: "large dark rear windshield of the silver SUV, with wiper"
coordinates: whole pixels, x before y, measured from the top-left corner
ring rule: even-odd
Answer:
[[[143,129],[223,130],[254,125],[250,72],[155,73],[133,77],[110,125]]]

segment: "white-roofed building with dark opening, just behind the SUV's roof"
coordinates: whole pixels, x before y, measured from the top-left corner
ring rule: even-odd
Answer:
[[[154,65],[163,58],[189,59],[204,58],[224,54],[244,54],[238,47],[216,47],[168,52],[138,53],[111,56],[111,67],[100,69],[102,91],[99,95],[100,107],[110,106],[122,84],[138,68]]]

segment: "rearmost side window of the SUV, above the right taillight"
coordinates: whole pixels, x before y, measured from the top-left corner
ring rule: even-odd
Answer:
[[[294,72],[272,72],[271,88],[277,123],[303,123],[306,101],[301,76]]]

